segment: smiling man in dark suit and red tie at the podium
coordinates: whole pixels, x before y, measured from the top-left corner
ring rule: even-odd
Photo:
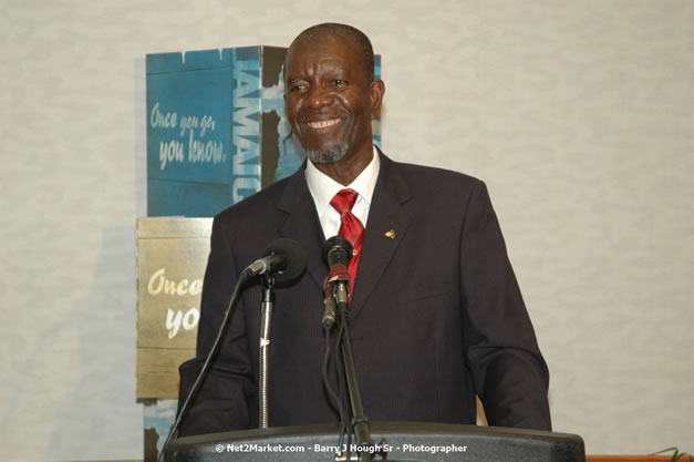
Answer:
[[[550,430],[547,366],[484,183],[375,150],[371,121],[385,86],[360,31],[302,32],[284,76],[287,115],[309,161],[215,218],[198,358],[180,368],[182,396],[211,348],[235,276],[268,243],[289,237],[307,250],[308,266],[276,289],[270,425],[336,420],[320,373],[328,274],[320,247],[349,225],[358,249],[350,329],[365,414],[475,423],[477,394],[493,425]],[[257,427],[259,307],[256,283],[241,295],[182,434]]]

